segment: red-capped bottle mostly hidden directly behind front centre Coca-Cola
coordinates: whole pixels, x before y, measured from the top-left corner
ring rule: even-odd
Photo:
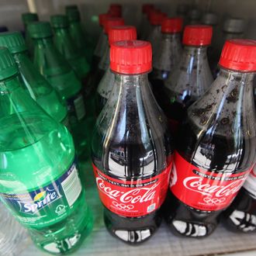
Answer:
[[[112,26],[109,29],[109,46],[112,43],[123,41],[123,40],[136,40],[137,39],[137,31],[135,26]],[[99,82],[99,86],[97,88],[97,112],[98,114],[102,111],[103,107],[106,105],[107,100],[109,99],[109,95],[112,91],[112,86],[115,81],[115,74],[110,71],[109,67],[109,52],[110,47],[106,52],[107,60],[107,70],[102,77],[102,80]]]

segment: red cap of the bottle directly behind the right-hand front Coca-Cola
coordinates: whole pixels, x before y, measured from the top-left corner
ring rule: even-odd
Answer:
[[[211,44],[213,27],[206,25],[185,26],[182,43],[185,45],[205,46]]]

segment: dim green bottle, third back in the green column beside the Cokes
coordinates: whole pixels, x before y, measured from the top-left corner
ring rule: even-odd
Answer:
[[[81,17],[78,9],[66,9],[66,15],[69,22],[69,33],[74,41],[80,54],[86,57],[86,60],[91,64],[94,47],[92,42],[88,42],[88,36],[85,36],[81,26]],[[92,40],[91,40],[92,41]]]

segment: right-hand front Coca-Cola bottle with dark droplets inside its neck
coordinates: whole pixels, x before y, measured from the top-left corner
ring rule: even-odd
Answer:
[[[228,40],[220,57],[220,75],[188,109],[165,205],[175,234],[211,234],[254,165],[255,54],[255,40]]]

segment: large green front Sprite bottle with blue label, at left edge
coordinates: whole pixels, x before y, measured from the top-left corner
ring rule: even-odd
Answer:
[[[22,89],[0,47],[0,199],[43,251],[66,254],[92,230],[71,134]]]

